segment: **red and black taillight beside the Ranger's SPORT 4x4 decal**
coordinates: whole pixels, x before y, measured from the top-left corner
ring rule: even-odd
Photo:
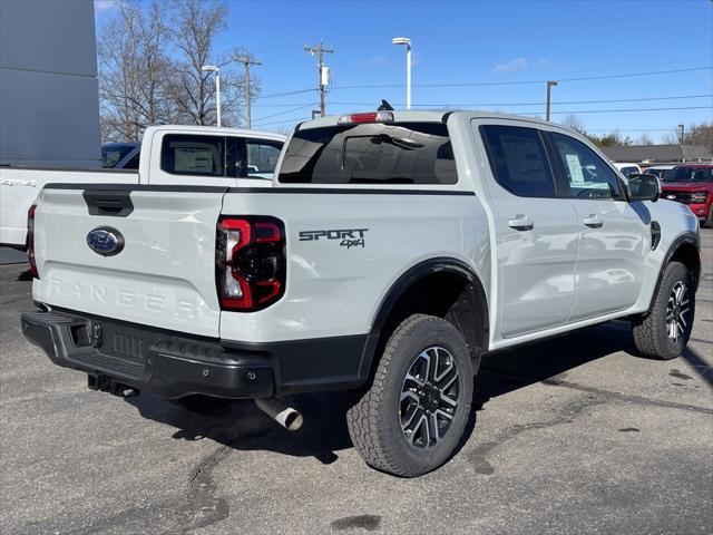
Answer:
[[[274,217],[222,216],[215,240],[221,309],[252,312],[285,293],[284,224]]]

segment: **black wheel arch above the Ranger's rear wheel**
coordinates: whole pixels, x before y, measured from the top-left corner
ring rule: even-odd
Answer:
[[[374,368],[374,356],[379,354],[390,333],[414,313],[440,317],[453,324],[466,339],[473,371],[477,371],[480,356],[488,350],[487,294],[473,270],[452,257],[423,261],[402,273],[391,285],[371,323],[364,359],[368,362],[363,362],[368,369]]]

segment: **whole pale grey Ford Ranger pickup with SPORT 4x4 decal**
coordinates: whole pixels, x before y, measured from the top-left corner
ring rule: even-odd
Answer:
[[[682,353],[699,223],[658,195],[554,124],[318,119],[272,188],[46,186],[22,331],[90,388],[253,398],[287,428],[286,395],[354,389],[356,449],[417,476],[462,439],[487,352],[624,319],[643,356]]]

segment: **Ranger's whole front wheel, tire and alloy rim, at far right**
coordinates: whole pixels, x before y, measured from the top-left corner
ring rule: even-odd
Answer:
[[[649,359],[680,357],[688,343],[694,315],[691,273],[681,262],[671,262],[664,271],[651,312],[632,322],[636,349]]]

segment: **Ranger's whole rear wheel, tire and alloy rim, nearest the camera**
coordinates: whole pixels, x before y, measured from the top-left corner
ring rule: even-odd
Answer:
[[[346,422],[367,464],[402,477],[431,471],[458,449],[470,415],[472,362],[448,321],[407,318]]]

